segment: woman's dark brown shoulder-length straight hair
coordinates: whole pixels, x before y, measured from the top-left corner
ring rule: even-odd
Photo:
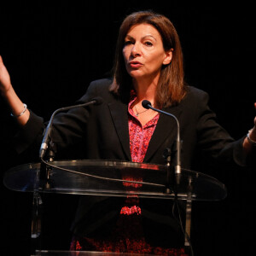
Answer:
[[[186,93],[183,74],[183,52],[177,31],[172,22],[166,16],[156,14],[153,11],[132,13],[125,18],[120,26],[113,67],[113,84],[111,84],[110,90],[124,96],[132,88],[131,77],[125,69],[123,47],[125,36],[131,27],[142,23],[150,24],[160,32],[165,50],[173,49],[172,62],[162,67],[156,89],[155,103],[160,108],[175,105],[183,99]]]

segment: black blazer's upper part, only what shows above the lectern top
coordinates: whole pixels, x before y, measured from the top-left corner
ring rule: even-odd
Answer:
[[[92,82],[87,93],[79,100],[88,102],[96,96],[101,96],[101,105],[75,108],[55,116],[52,140],[57,147],[57,156],[60,154],[60,157],[90,160],[131,160],[127,102],[122,102],[119,97],[109,92],[111,82],[111,79]],[[183,168],[193,167],[193,158],[198,151],[205,157],[210,156],[245,166],[243,138],[235,141],[230,137],[227,131],[218,125],[215,114],[207,103],[206,92],[189,87],[187,96],[180,104],[163,109],[174,114],[180,123]],[[43,131],[43,119],[31,113],[26,126],[20,131],[20,139],[17,138],[15,143],[18,153],[35,141],[38,141],[39,145]],[[176,121],[160,113],[144,162],[166,164],[162,154],[166,148],[173,148],[176,137]]]

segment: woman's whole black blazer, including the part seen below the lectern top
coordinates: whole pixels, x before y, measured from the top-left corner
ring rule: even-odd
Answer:
[[[101,96],[103,103],[87,108],[75,108],[68,113],[59,113],[54,119],[52,140],[57,147],[57,156],[61,158],[79,158],[90,160],[128,160],[131,161],[128,131],[128,102],[123,102],[118,96],[109,92],[111,79],[101,79],[92,82],[86,94],[79,102],[88,102],[96,96]],[[195,153],[200,151],[207,157],[224,160],[239,166],[246,165],[242,150],[242,140],[235,141],[215,119],[215,114],[207,105],[208,95],[194,87],[188,88],[188,93],[177,106],[163,110],[174,114],[180,123],[182,145],[182,167],[193,170]],[[26,126],[20,131],[16,149],[24,151],[30,144],[42,141],[44,120],[31,113]],[[166,148],[175,145],[177,124],[172,117],[160,113],[160,119],[148,145],[144,162],[166,164],[163,153]],[[79,145],[79,146],[78,146]],[[73,154],[75,152],[75,154]],[[36,150],[38,153],[38,150]],[[114,203],[113,203],[114,201]],[[119,216],[123,199],[106,197],[82,196],[79,210],[73,222],[75,233],[88,235],[96,230],[109,230]],[[166,207],[165,200],[142,200],[143,221],[145,227],[153,225],[148,233],[166,234],[167,227],[177,230],[170,218],[172,209]],[[157,224],[153,224],[157,223]],[[105,228],[102,229],[102,225]],[[107,226],[106,226],[107,225]],[[100,228],[101,227],[101,228]],[[107,227],[107,228],[106,228]],[[168,231],[169,232],[169,231]]]

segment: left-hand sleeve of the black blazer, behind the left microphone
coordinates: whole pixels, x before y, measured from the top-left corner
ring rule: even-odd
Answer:
[[[107,87],[108,83],[106,81],[104,84],[106,84]],[[79,101],[75,102],[75,104],[89,102],[92,98],[98,96],[96,88],[96,83],[92,82],[84,96],[82,96]],[[55,115],[51,138],[58,148],[58,152],[59,148],[61,150],[63,148],[73,148],[74,145],[83,143],[86,124],[92,112],[92,108],[96,107],[97,106],[73,108],[67,112],[57,113]],[[15,148],[17,154],[22,154],[27,151],[30,155],[37,157],[48,122],[45,122],[42,117],[39,117],[31,110],[30,113],[30,118],[26,125],[23,126],[14,137],[13,148]],[[32,154],[32,152],[34,153]]]

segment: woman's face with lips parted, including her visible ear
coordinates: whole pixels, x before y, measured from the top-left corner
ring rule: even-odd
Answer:
[[[172,50],[165,51],[160,33],[146,23],[131,27],[123,55],[127,72],[136,80],[159,78],[162,65],[172,61]]]

